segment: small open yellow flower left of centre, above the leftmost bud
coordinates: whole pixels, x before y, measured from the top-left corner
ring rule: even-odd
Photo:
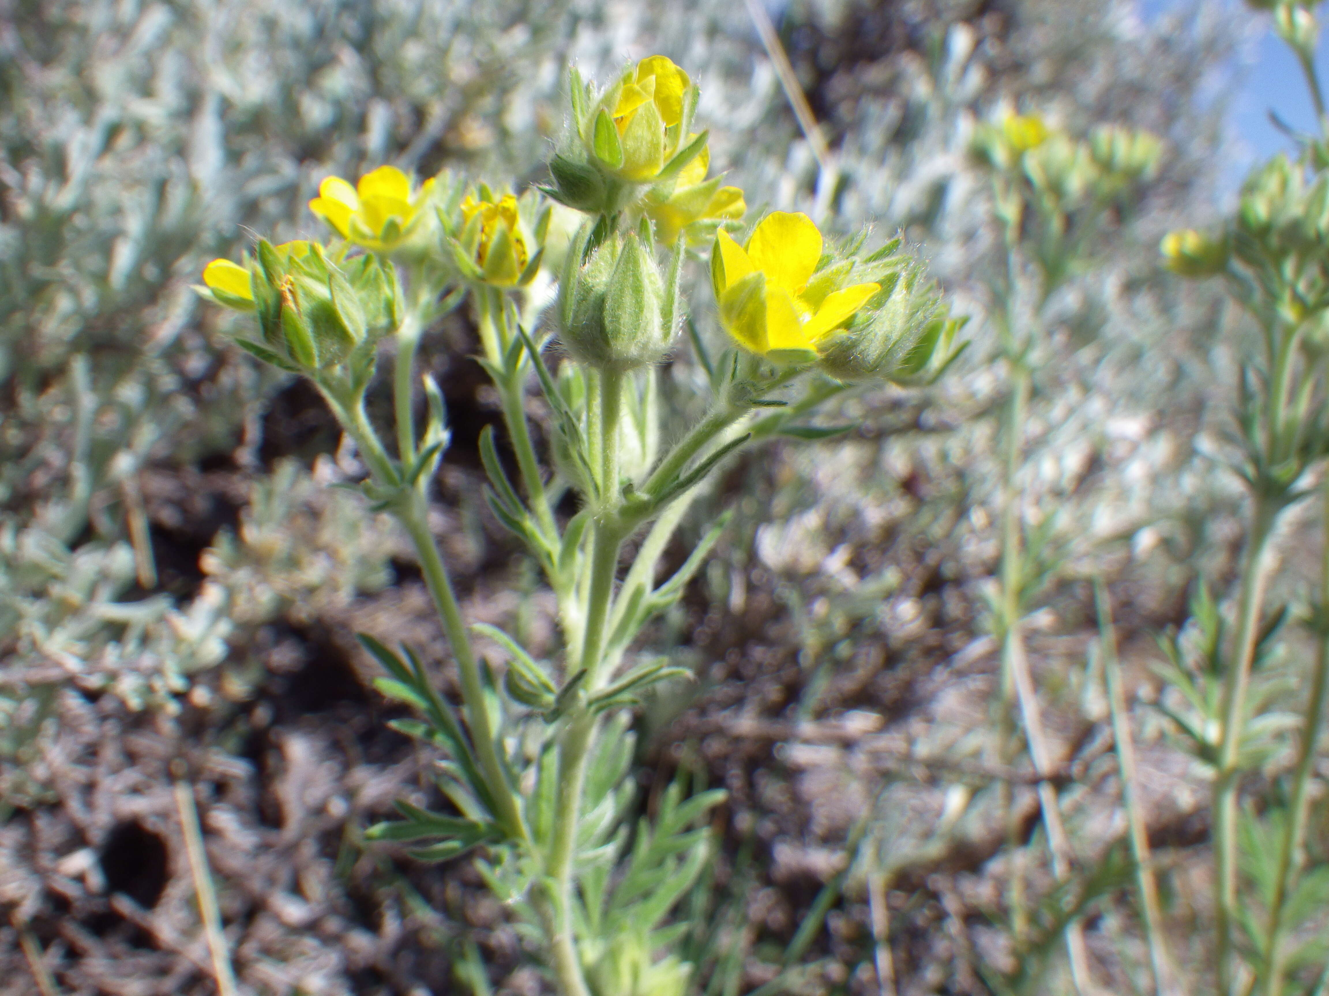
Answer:
[[[388,252],[423,216],[432,190],[433,181],[427,179],[412,197],[407,174],[396,166],[380,166],[360,177],[354,187],[340,177],[328,177],[319,185],[319,195],[310,201],[310,210],[343,239]]]

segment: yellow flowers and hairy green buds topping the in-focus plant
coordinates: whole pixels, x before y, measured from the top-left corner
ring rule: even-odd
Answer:
[[[728,230],[747,214],[743,191],[723,185],[722,175],[707,175],[708,135],[691,130],[696,85],[664,56],[641,60],[603,90],[574,72],[571,97],[571,133],[553,157],[552,185],[542,191],[590,215],[557,274],[560,328],[573,356],[619,369],[659,361],[682,315],[678,264],[710,243],[720,325],[739,347],[779,364],[821,363],[843,378],[890,376],[892,361],[902,359],[901,347],[926,327],[937,301],[917,278],[918,267],[898,252],[898,240],[890,244],[889,263],[868,262],[827,251],[807,215],[779,211],[742,244],[735,240]],[[1002,134],[1003,147],[1021,154],[1049,142],[1038,118],[1011,118]],[[1106,141],[1104,155],[1122,158],[1120,146]],[[408,263],[428,259],[461,286],[517,291],[541,267],[550,219],[549,203],[536,191],[517,197],[484,183],[464,189],[447,174],[416,185],[393,166],[380,166],[354,186],[328,177],[310,210],[343,248],[287,243],[259,254],[282,260],[282,274],[229,260],[214,260],[203,274],[213,300],[259,311],[263,343],[272,352],[266,359],[298,368],[336,363],[363,339],[359,317],[335,316],[339,309],[391,309],[384,303],[391,282],[338,291],[338,282],[348,279],[343,267],[381,276],[379,264],[348,263],[350,250]],[[668,276],[657,244],[674,251]],[[278,313],[294,331],[274,333]],[[306,320],[306,313],[315,317]]]

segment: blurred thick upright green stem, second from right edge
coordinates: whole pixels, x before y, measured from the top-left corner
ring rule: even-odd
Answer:
[[[1269,580],[1265,550],[1276,518],[1276,506],[1257,493],[1247,562],[1241,571],[1235,656],[1224,676],[1223,728],[1219,741],[1217,772],[1213,781],[1212,817],[1215,878],[1217,879],[1215,902],[1216,971],[1221,996],[1231,992],[1233,977],[1232,919],[1237,902],[1237,789],[1240,788],[1237,762],[1241,748],[1241,720],[1251,683],[1251,667],[1255,663],[1265,587]]]

